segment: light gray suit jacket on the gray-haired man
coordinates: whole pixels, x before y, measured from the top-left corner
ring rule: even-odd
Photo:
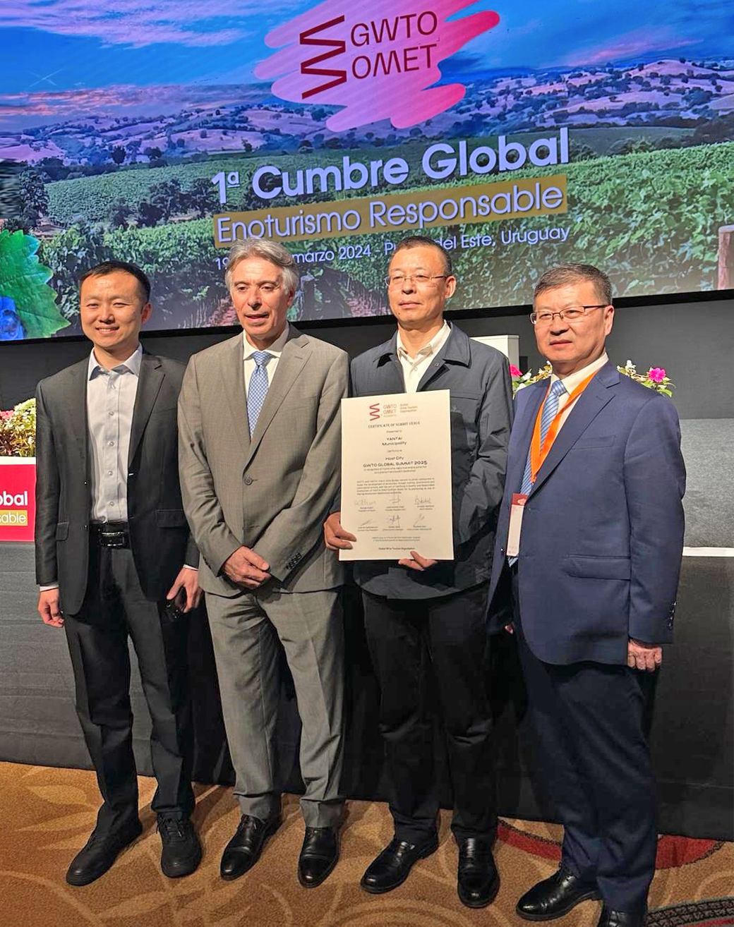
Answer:
[[[339,485],[341,399],[349,359],[292,325],[250,438],[239,334],[195,354],[178,401],[179,466],[188,523],[200,547],[200,585],[241,588],[222,572],[241,544],[270,565],[285,592],[343,582],[322,523]]]

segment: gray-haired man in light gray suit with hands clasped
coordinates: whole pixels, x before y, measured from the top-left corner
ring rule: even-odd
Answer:
[[[313,887],[339,852],[343,574],[321,523],[339,483],[349,362],[288,323],[298,274],[286,248],[236,243],[225,280],[244,331],[191,358],[178,403],[181,489],[242,811],[221,875],[249,870],[280,823],[279,638],[303,725],[298,875]]]

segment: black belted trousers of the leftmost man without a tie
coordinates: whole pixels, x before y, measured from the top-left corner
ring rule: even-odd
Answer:
[[[150,717],[150,753],[158,788],[154,811],[194,806],[191,708],[187,689],[187,616],[165,616],[148,602],[130,550],[90,547],[89,585],[81,612],[66,615],[76,711],[104,803],[97,826],[119,831],[137,820],[128,635],[137,654]]]

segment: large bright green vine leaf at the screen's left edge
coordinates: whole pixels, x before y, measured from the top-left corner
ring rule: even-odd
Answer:
[[[27,338],[45,338],[69,323],[56,305],[48,286],[51,271],[36,255],[38,241],[22,232],[0,232],[0,296],[15,301]]]

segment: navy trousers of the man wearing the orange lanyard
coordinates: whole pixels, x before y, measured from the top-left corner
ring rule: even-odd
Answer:
[[[600,663],[544,663],[524,640],[519,618],[515,608],[538,748],[534,772],[564,827],[563,865],[598,883],[608,908],[644,911],[657,830],[642,674]]]

